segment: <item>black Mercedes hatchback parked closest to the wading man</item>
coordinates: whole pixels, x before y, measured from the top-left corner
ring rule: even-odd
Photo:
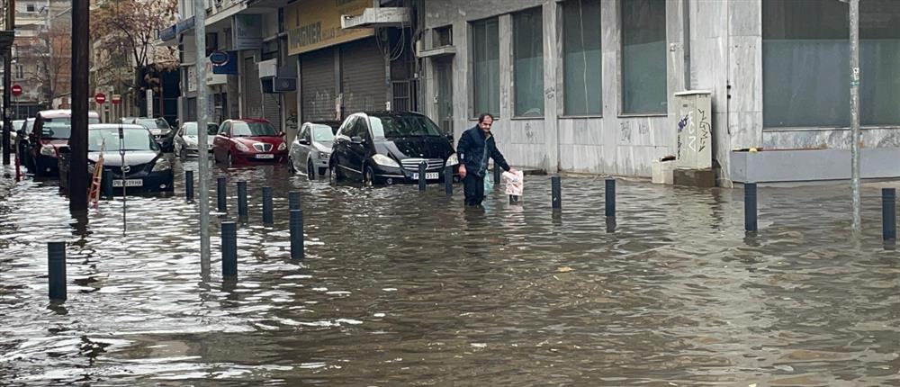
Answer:
[[[445,166],[453,166],[458,181],[452,139],[416,112],[359,112],[347,117],[335,136],[329,179],[337,183],[349,177],[370,185],[418,183],[422,177],[439,182]],[[426,175],[419,176],[423,161]]]

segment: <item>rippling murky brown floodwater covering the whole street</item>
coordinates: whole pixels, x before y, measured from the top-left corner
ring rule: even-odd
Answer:
[[[526,177],[521,205],[495,192],[464,211],[460,185],[447,198],[437,184],[213,171],[228,175],[229,214],[213,217],[205,277],[180,169],[175,196],[129,198],[125,237],[119,200],[85,224],[52,182],[12,187],[0,384],[900,385],[900,260],[881,242],[877,190],[854,240],[847,187],[761,188],[747,236],[740,189],[620,181],[613,227],[595,178],[563,178],[554,216],[546,176]],[[236,218],[242,179],[250,218],[238,281],[223,282],[219,221]],[[47,299],[49,240],[68,242],[62,304]]]

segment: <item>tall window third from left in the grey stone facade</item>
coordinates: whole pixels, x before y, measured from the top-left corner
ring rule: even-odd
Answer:
[[[563,3],[563,114],[603,111],[600,72],[600,0]]]

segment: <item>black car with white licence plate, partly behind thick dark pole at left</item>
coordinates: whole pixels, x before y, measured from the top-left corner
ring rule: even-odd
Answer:
[[[124,163],[121,148],[125,149]],[[103,175],[112,178],[113,193],[121,193],[122,186],[126,187],[126,193],[165,193],[175,189],[172,165],[147,128],[136,124],[90,125],[87,130],[88,178],[93,179],[102,149]],[[65,169],[65,166],[60,167],[60,170]],[[63,184],[60,181],[60,185]]]

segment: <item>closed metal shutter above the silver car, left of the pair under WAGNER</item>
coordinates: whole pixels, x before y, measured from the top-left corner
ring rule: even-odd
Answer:
[[[302,121],[335,120],[334,49],[319,49],[300,57]]]

